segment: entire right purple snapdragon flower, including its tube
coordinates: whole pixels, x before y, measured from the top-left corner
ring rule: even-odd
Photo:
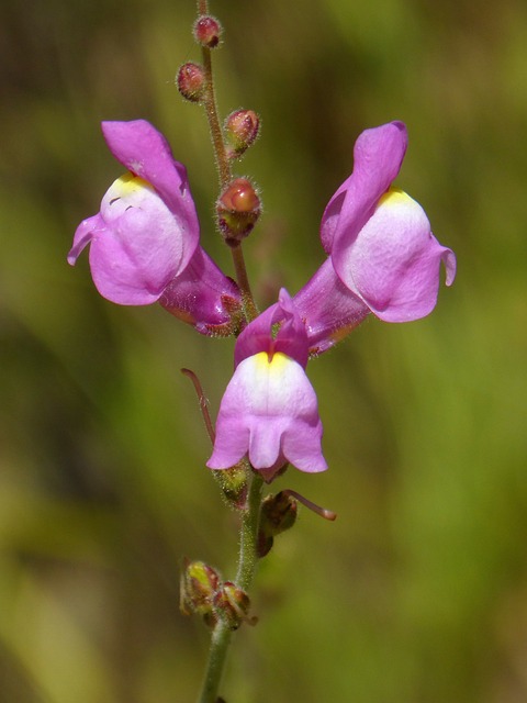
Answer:
[[[430,313],[441,261],[447,286],[455,279],[453,252],[431,234],[421,205],[392,188],[406,145],[402,122],[362,132],[354,171],[324,211],[321,239],[329,258],[294,297],[312,353],[329,348],[370,313],[385,322]]]

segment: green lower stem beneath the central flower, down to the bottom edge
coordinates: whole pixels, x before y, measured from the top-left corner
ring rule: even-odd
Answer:
[[[257,473],[251,472],[247,507],[242,517],[238,568],[236,572],[236,585],[244,591],[247,591],[253,583],[258,563],[258,523],[262,489],[262,479]],[[212,633],[209,661],[199,703],[216,703],[232,638],[233,632],[227,623],[221,620]]]

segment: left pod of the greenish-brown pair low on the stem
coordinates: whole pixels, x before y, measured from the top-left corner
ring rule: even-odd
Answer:
[[[198,613],[210,626],[215,624],[214,596],[220,574],[203,561],[184,560],[180,584],[180,610],[184,615]]]

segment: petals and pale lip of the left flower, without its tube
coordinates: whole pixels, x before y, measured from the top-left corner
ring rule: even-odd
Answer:
[[[101,295],[145,305],[190,264],[199,222],[187,171],[165,137],[144,120],[103,122],[112,154],[128,171],[106,191],[97,215],[81,222],[68,255],[74,265],[90,246],[90,268]]]

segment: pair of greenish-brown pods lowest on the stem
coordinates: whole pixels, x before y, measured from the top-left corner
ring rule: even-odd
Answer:
[[[201,615],[208,627],[218,621],[229,629],[238,629],[242,623],[255,625],[249,616],[250,600],[233,581],[222,581],[220,573],[203,561],[183,562],[180,587],[180,610],[183,615]]]

